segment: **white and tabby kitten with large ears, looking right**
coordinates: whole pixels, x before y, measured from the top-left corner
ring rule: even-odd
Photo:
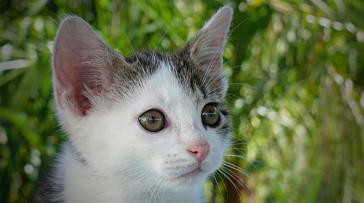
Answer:
[[[52,54],[57,116],[68,142],[37,203],[201,203],[229,142],[221,73],[232,9],[182,49],[124,57],[67,17]]]

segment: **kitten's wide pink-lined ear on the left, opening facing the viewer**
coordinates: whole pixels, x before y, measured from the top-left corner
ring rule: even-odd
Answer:
[[[62,110],[86,116],[91,100],[108,91],[115,59],[111,49],[78,17],[64,19],[57,31],[52,54],[53,88]]]

